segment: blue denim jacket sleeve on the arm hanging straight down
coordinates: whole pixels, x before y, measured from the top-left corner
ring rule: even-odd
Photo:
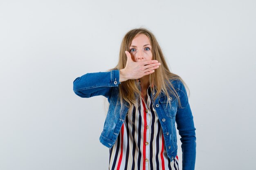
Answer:
[[[178,106],[175,119],[181,136],[180,141],[182,142],[182,170],[194,170],[196,153],[195,126],[186,89],[184,84],[181,81],[179,82],[178,94],[182,108]]]

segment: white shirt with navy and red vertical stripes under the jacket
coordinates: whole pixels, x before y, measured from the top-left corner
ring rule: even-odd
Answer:
[[[147,102],[141,93],[138,109],[126,115],[117,141],[109,149],[109,170],[179,170],[178,157],[167,157],[164,135],[147,89]],[[134,122],[134,123],[132,123]]]

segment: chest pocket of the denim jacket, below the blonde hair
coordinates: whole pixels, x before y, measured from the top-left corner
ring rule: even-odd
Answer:
[[[169,103],[171,103],[171,105]],[[161,103],[162,107],[164,108],[164,112],[167,117],[174,118],[177,113],[177,106],[178,106],[178,100],[175,96],[172,94],[162,95],[159,98],[159,102]]]

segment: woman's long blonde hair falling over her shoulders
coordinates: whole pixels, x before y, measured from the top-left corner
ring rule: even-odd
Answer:
[[[180,97],[178,96],[177,92],[175,91],[175,88],[173,87],[173,84],[170,80],[173,79],[179,79],[182,81],[182,83],[186,86],[185,82],[182,80],[182,78],[174,73],[171,73],[169,71],[168,65],[165,61],[163,52],[153,35],[149,30],[144,28],[138,28],[138,29],[132,29],[126,33],[124,36],[120,52],[119,52],[119,61],[117,66],[115,68],[111,68],[108,71],[111,70],[120,70],[125,68],[127,57],[125,54],[125,51],[129,51],[130,44],[132,40],[138,35],[138,34],[144,34],[148,37],[150,44],[151,44],[151,52],[152,52],[152,60],[157,60],[161,63],[161,66],[159,68],[155,69],[155,72],[150,74],[149,76],[149,83],[150,83],[150,90],[156,91],[156,94],[153,98],[155,100],[157,96],[161,93],[161,91],[168,97],[168,91],[171,91],[171,94],[173,94],[177,99],[179,106],[180,104]],[[186,86],[187,87],[187,86]],[[139,84],[136,79],[128,79],[125,82],[121,82],[119,84],[119,99],[121,103],[121,108],[123,106],[123,101],[125,100],[129,104],[129,110],[128,114],[132,113],[132,106],[136,106],[136,101],[141,95],[141,91],[139,89]],[[170,101],[168,102],[170,104]],[[167,105],[166,105],[167,106]]]

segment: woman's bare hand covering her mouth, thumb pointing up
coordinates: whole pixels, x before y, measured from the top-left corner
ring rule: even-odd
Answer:
[[[130,53],[128,51],[125,51],[125,53],[127,56],[126,67],[119,71],[119,82],[124,82],[128,79],[139,79],[154,73],[155,69],[161,65],[157,60],[134,62]]]

